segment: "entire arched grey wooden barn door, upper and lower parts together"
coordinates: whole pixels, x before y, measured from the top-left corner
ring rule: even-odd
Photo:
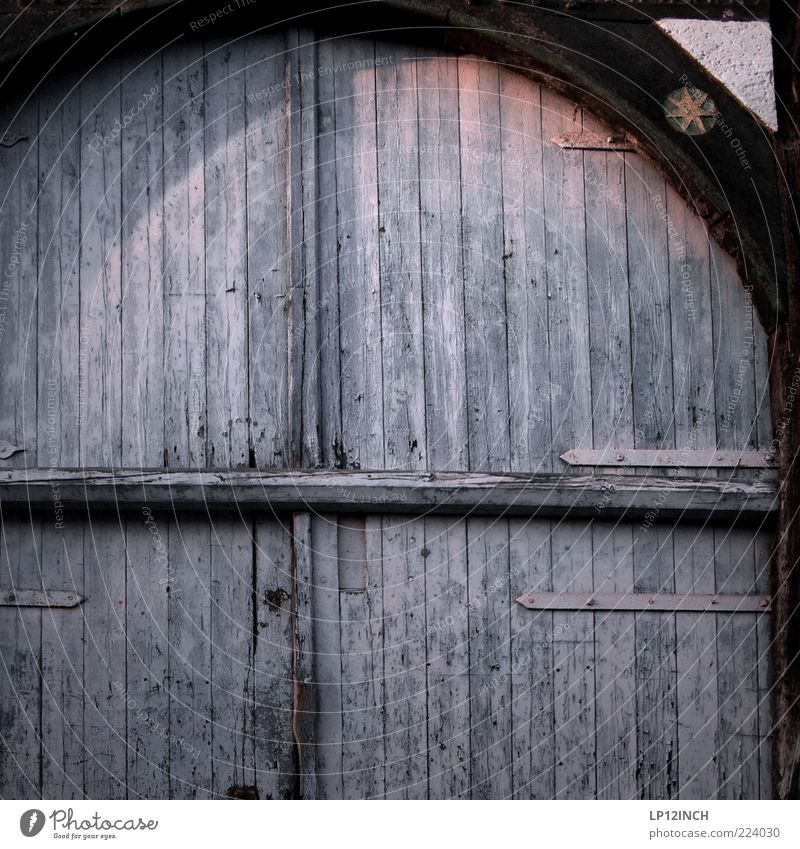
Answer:
[[[655,167],[423,47],[87,71],[0,149],[0,586],[86,599],[2,795],[768,797],[766,335]]]

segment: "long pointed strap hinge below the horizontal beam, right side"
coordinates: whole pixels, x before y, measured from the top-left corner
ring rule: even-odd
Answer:
[[[678,595],[670,593],[540,593],[517,602],[528,610],[657,610],[683,613],[767,613],[765,595]]]

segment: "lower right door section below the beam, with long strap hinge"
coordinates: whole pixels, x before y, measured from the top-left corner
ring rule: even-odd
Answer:
[[[317,517],[319,795],[768,795],[768,543],[696,524]]]

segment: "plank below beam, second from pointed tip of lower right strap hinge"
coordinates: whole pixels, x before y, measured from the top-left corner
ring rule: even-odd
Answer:
[[[564,520],[553,527],[553,590],[592,590],[592,528]],[[553,613],[553,715],[558,799],[597,793],[595,752],[595,646],[592,616]]]

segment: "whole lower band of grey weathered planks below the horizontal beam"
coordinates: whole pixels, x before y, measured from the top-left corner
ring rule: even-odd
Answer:
[[[768,538],[353,513],[8,519],[3,581],[41,570],[87,598],[0,607],[3,795],[758,798],[769,614],[698,610],[691,593],[763,595]],[[515,602],[602,601],[631,581],[688,604]]]

